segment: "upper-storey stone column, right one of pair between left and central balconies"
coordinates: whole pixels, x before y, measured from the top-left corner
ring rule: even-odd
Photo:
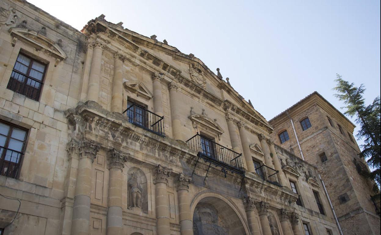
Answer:
[[[180,103],[178,89],[179,86],[176,83],[171,82],[168,85],[169,96],[171,102],[171,119],[172,119],[172,133],[173,139],[182,140],[181,135],[181,121],[180,121]]]

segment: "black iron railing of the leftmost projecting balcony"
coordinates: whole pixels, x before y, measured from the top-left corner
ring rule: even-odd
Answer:
[[[160,117],[137,104],[132,104],[124,110],[123,114],[124,113],[127,115],[128,122],[158,134],[159,136],[165,136],[164,117]]]

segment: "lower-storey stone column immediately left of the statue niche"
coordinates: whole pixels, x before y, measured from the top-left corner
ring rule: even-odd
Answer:
[[[107,198],[107,235],[122,235],[122,182],[127,157],[115,149],[108,153],[109,194]]]

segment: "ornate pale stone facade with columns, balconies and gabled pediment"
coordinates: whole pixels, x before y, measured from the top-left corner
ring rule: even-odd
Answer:
[[[339,234],[318,168],[194,55],[0,11],[2,234]]]

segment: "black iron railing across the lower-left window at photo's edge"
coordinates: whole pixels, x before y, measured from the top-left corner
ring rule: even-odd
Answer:
[[[12,178],[18,177],[23,155],[22,152],[0,146],[1,175]]]

